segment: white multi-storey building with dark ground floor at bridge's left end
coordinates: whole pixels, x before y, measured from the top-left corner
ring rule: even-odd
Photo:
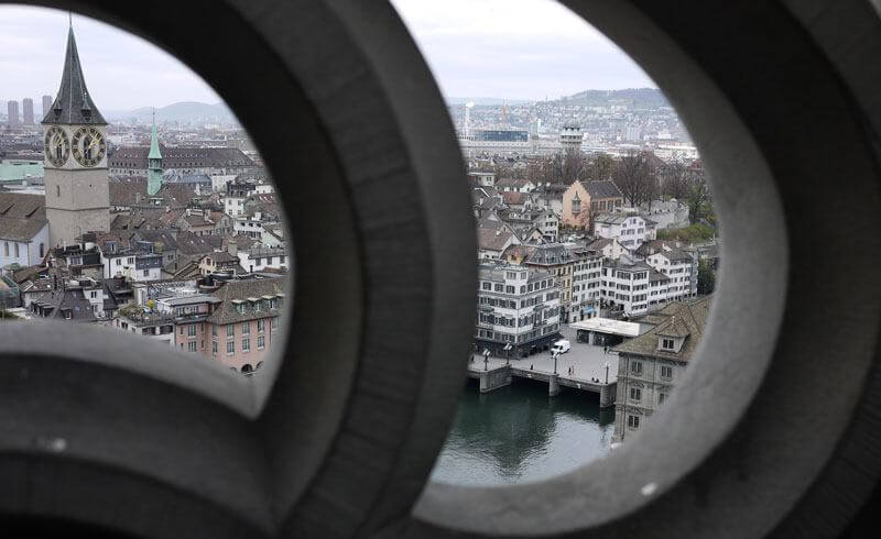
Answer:
[[[481,264],[475,345],[511,356],[547,349],[559,339],[559,287],[554,276],[539,268],[510,264]]]

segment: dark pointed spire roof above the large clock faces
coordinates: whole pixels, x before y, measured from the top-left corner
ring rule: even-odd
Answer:
[[[86,88],[73,26],[67,33],[67,52],[64,56],[64,72],[58,95],[52,108],[43,117],[42,123],[107,125]]]

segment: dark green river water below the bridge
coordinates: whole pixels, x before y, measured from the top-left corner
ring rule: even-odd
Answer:
[[[613,408],[595,395],[547,395],[547,384],[514,380],[481,395],[469,381],[432,479],[459,485],[539,481],[609,452]]]

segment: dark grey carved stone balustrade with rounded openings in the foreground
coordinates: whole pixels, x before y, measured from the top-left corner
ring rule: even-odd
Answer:
[[[425,484],[470,348],[475,234],[449,119],[391,7],[37,3],[143,35],[218,89],[275,178],[296,283],[284,361],[249,381],[124,336],[0,329],[0,513],[14,521],[146,537],[831,536],[874,487],[881,68],[860,59],[878,57],[881,21],[868,2],[566,2],[695,136],[722,275],[700,360],[656,420],[601,462],[504,488]]]

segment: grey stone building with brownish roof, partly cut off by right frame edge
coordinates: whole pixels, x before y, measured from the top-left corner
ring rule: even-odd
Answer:
[[[618,352],[614,433],[619,442],[643,428],[685,374],[709,316],[710,298],[670,304],[652,314],[656,326],[624,341]]]

